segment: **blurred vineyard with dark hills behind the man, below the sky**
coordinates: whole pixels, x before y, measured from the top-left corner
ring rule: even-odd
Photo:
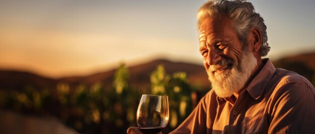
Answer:
[[[297,72],[314,85],[314,59],[315,53],[306,53],[273,63],[276,67]],[[135,113],[141,94],[169,96],[170,121],[164,130],[169,132],[189,115],[211,88],[202,65],[168,60],[135,66],[121,63],[115,70],[61,79],[0,71],[0,85],[0,112],[13,114],[21,120],[29,117],[49,120],[52,117],[53,122],[60,124],[55,125],[56,128],[64,124],[66,129],[80,133],[125,133],[129,126],[136,126]],[[0,125],[8,124],[11,119],[2,119]],[[40,121],[31,123],[41,124]],[[27,124],[30,123],[19,126],[23,128]],[[27,133],[27,130],[16,132],[15,127],[9,128],[12,133]],[[10,133],[10,129],[6,133]]]

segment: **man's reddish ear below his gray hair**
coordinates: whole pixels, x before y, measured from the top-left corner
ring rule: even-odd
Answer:
[[[262,36],[260,30],[257,28],[252,29],[248,37],[248,44],[250,50],[252,50],[253,52],[259,52],[261,40]]]

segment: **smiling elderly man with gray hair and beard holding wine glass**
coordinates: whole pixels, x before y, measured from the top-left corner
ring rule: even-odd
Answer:
[[[270,47],[264,20],[251,3],[209,1],[197,17],[212,90],[172,133],[315,132],[315,89],[261,58]]]

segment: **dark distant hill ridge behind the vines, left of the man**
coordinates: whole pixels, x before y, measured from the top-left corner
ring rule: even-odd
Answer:
[[[149,88],[150,74],[156,69],[157,65],[160,64],[164,65],[168,74],[186,72],[191,82],[195,83],[196,81],[201,81],[202,83],[208,83],[207,75],[202,65],[185,62],[173,62],[167,59],[156,59],[150,62],[127,66],[130,73],[130,86]],[[0,70],[0,88],[23,89],[28,85],[32,85],[34,88],[43,89],[48,87],[51,89],[55,88],[58,83],[67,83],[70,87],[75,87],[79,84],[91,86],[97,82],[101,82],[106,88],[110,88],[114,81],[116,70],[117,69],[112,69],[87,76],[62,77],[57,79],[44,77],[31,72]],[[209,86],[210,84],[206,85]]]

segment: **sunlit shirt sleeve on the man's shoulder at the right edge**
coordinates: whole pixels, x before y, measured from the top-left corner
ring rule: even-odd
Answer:
[[[276,87],[270,107],[268,133],[313,133],[315,131],[315,90],[305,81]]]

